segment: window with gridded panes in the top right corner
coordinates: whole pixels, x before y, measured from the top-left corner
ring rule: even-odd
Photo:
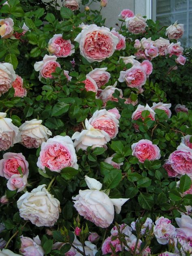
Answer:
[[[192,47],[192,0],[156,0],[153,16],[162,26],[170,26],[177,20],[184,24],[185,32],[179,41],[185,47]]]

